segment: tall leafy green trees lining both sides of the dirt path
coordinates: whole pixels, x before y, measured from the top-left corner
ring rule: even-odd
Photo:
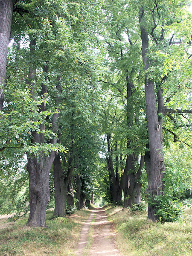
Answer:
[[[96,202],[180,216],[191,196],[188,4],[0,0],[1,214],[46,227],[47,208],[64,217]]]

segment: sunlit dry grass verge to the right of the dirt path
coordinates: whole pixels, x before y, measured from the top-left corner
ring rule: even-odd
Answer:
[[[116,230],[116,244],[123,256],[190,256],[192,255],[192,209],[184,220],[160,224],[147,221],[147,213],[131,213],[111,207],[106,210]]]

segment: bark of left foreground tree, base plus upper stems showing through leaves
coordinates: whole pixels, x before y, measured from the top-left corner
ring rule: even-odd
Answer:
[[[30,53],[34,54],[35,52],[35,40],[31,40],[30,44]],[[44,73],[47,73],[48,67],[43,67]],[[28,84],[31,87],[31,96],[33,100],[36,100],[36,87],[34,83],[30,81],[35,79],[35,67],[29,68],[29,81]],[[45,77],[45,80],[47,76]],[[45,97],[47,93],[46,84],[41,84],[41,95]],[[39,106],[39,112],[46,110],[46,100],[42,102]],[[57,132],[58,129],[58,113],[54,113],[52,117],[52,131]],[[42,133],[37,131],[32,131],[32,145],[36,143],[43,144],[45,141],[43,131],[45,130],[45,125],[40,125],[40,130]],[[51,144],[55,144],[57,139],[54,138],[51,140]],[[27,225],[32,227],[46,227],[45,223],[45,211],[47,203],[49,201],[49,172],[52,166],[52,163],[55,158],[55,152],[49,153],[45,156],[43,152],[38,153],[38,159],[34,155],[28,154],[28,163],[27,170],[29,172],[29,205],[30,213]]]

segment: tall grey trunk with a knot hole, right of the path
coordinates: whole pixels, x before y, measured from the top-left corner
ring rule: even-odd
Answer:
[[[150,67],[150,61],[148,60],[146,53],[148,51],[148,32],[146,30],[146,23],[144,19],[144,11],[140,10],[140,30],[142,40],[142,57],[144,70],[148,70]],[[156,98],[154,93],[154,81],[148,79],[145,75],[145,102],[146,102],[146,116],[148,124],[148,139],[150,149],[150,171],[148,173],[148,198],[153,200],[154,195],[160,195],[163,190],[163,171],[165,170],[162,144],[160,136],[160,124],[158,122]],[[155,221],[159,217],[155,214],[155,207],[148,201],[148,218]]]

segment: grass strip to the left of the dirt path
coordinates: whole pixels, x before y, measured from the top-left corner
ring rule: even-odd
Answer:
[[[89,215],[81,210],[71,218],[53,218],[53,211],[47,211],[46,224],[49,228],[26,227],[27,218],[10,225],[0,220],[1,256],[72,256],[79,239],[81,223]],[[7,227],[6,227],[7,225]]]

